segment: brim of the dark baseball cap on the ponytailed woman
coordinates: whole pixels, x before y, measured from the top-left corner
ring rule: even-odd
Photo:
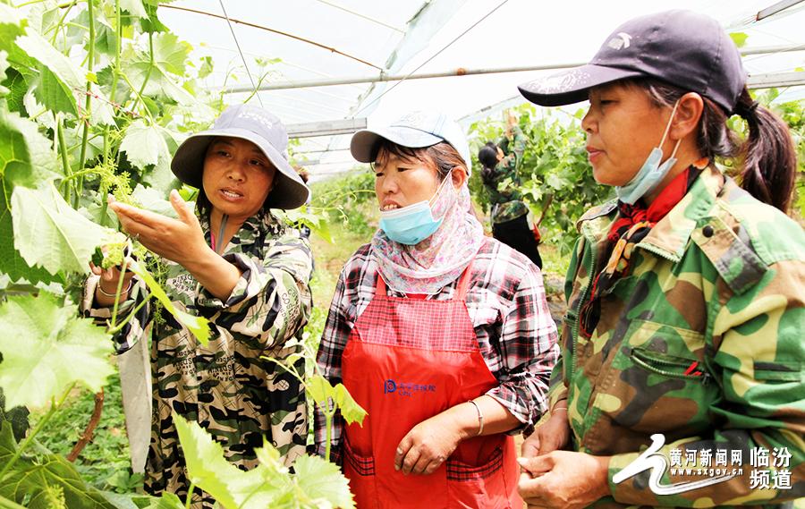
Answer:
[[[589,89],[593,87],[644,75],[632,69],[587,64],[528,81],[517,88],[523,97],[536,105],[564,106],[587,100]]]

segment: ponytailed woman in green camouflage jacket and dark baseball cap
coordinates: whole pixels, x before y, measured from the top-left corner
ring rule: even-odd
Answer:
[[[543,106],[589,98],[589,161],[618,195],[578,223],[551,417],[523,445],[529,507],[805,495],[805,236],[784,214],[796,157],[745,82],[716,21],[670,11],[521,86]],[[741,186],[714,165],[738,155]]]

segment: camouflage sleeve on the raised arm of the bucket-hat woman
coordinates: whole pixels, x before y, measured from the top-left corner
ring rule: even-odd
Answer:
[[[309,243],[295,230],[272,242],[257,256],[227,253],[241,278],[226,301],[200,288],[196,304],[218,327],[258,339],[265,348],[284,344],[307,322],[312,298],[309,281],[313,261]]]

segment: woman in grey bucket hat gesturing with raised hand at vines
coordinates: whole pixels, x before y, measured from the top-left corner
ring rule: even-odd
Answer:
[[[285,160],[282,123],[252,106],[231,106],[212,130],[191,136],[172,163],[182,182],[199,188],[197,215],[178,192],[178,220],[113,202],[127,233],[162,257],[165,292],[181,311],[208,318],[210,340],[199,344],[173,316],[146,303],[116,335],[125,352],[153,328],[153,414],[145,486],[157,495],[186,496],[186,477],[172,414],[198,422],[223,445],[226,458],[248,469],[267,440],[290,465],[305,452],[307,410],[301,382],[265,357],[299,352],[311,305],[309,245],[269,208],[297,208],[309,190]],[[102,271],[86,284],[84,308],[108,318],[120,277]],[[123,281],[120,314],[148,299],[145,284]],[[297,369],[302,371],[303,361]],[[212,507],[193,494],[194,507]]]

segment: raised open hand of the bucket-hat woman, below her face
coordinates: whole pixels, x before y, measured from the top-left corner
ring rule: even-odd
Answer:
[[[179,219],[161,216],[109,199],[109,207],[120,219],[123,230],[157,255],[185,265],[208,249],[199,219],[187,207],[178,191],[171,191],[171,205]]]

